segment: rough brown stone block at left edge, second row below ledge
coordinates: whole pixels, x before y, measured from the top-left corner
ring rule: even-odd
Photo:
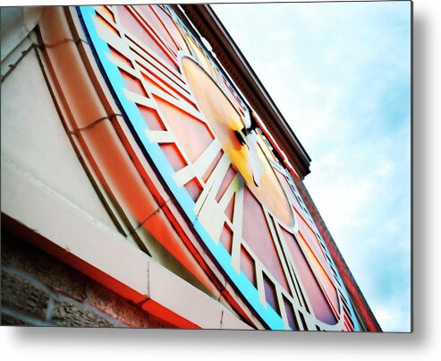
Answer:
[[[2,306],[20,310],[44,320],[49,302],[47,291],[20,276],[2,270]]]

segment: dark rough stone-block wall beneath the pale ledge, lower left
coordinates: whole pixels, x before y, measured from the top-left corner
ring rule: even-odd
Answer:
[[[1,325],[172,328],[2,230]]]

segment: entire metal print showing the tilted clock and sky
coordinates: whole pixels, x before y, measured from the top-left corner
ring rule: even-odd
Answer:
[[[8,8],[3,19],[5,323],[408,330],[409,286],[403,319],[385,329],[339,248],[382,259],[394,242],[396,260],[410,256],[410,203],[392,204],[410,202],[411,3]],[[386,60],[370,53],[376,30],[378,48],[396,40]],[[392,220],[361,213],[397,176],[379,211]],[[61,280],[29,271],[32,252]],[[408,267],[394,270],[410,285]],[[24,280],[41,297],[31,310],[8,293]]]

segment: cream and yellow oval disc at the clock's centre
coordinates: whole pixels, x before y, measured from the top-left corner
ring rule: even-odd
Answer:
[[[291,204],[286,198],[275,171],[259,146],[257,147],[258,157],[264,170],[259,186],[253,180],[250,160],[250,151],[253,150],[250,150],[247,144],[242,144],[237,138],[237,132],[241,132],[245,125],[233,104],[208,73],[188,56],[182,56],[182,73],[185,75],[202,114],[207,119],[208,125],[252,192],[274,216],[287,227],[293,227],[294,218]]]

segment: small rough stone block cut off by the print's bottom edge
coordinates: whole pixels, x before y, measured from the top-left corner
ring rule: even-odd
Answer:
[[[90,311],[81,310],[76,305],[55,302],[51,322],[59,326],[73,327],[114,327],[105,318]]]

